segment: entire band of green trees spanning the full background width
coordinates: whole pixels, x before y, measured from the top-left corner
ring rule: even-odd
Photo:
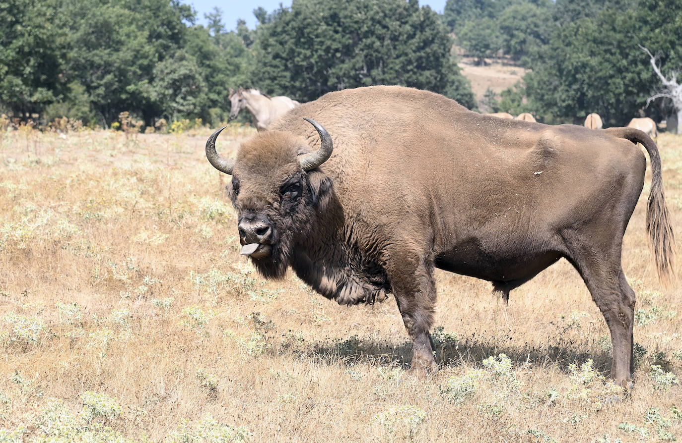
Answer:
[[[225,121],[229,88],[310,101],[342,88],[402,84],[477,109],[454,44],[480,60],[505,56],[531,69],[494,111],[571,122],[597,112],[622,125],[661,118],[661,70],[682,66],[676,0],[448,0],[443,14],[418,0],[293,0],[254,10],[255,29],[207,25],[179,0],[0,2],[0,113],[50,122],[67,116],[110,126],[121,112],[152,126]],[[483,108],[483,107],[481,107]]]

